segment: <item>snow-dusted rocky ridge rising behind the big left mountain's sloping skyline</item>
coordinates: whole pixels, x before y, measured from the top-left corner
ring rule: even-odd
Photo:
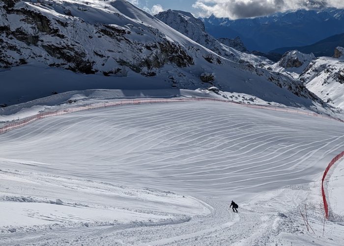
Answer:
[[[265,58],[243,54],[242,52],[235,50],[235,47],[239,47],[241,50],[246,50],[242,42],[240,44],[238,39],[217,40],[205,31],[205,27],[201,19],[195,18],[191,13],[169,9],[155,15],[155,17],[172,27],[174,30],[183,33],[195,42],[214,51],[216,54],[229,59],[230,61],[239,63],[270,62]],[[230,44],[235,47],[232,48]]]

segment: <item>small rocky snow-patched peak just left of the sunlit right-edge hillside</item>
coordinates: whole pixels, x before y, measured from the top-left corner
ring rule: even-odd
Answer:
[[[273,64],[271,68],[276,72],[287,72],[298,78],[310,62],[315,60],[313,54],[303,54],[297,50],[287,52],[282,59]]]

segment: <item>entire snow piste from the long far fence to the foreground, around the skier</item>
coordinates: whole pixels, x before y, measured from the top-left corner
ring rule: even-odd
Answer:
[[[1,245],[344,240],[340,206],[322,236],[320,193],[327,163],[344,148],[340,122],[170,102],[46,118],[1,134],[0,143]],[[331,191],[344,182],[343,174],[334,177],[331,199],[343,193],[343,185]],[[299,213],[305,204],[315,234]]]

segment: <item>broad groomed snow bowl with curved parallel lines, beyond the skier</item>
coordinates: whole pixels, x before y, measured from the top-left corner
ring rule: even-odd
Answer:
[[[39,169],[57,167],[59,175],[247,199],[312,181],[342,151],[343,135],[343,123],[329,120],[185,102],[44,119],[2,135],[0,153],[47,163]]]

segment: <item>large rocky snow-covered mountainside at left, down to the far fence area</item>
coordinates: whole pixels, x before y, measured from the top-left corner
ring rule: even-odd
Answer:
[[[213,81],[209,81],[211,85],[223,91],[242,92],[288,106],[325,105],[300,81],[252,64],[231,62],[231,56],[239,62],[252,60],[255,63],[260,59],[206,35],[200,31],[199,21],[190,25],[189,19],[194,21],[194,17],[179,12],[176,15],[187,19],[178,22],[180,27],[185,24],[184,31],[192,27],[190,33],[199,34],[201,44],[215,47],[214,50],[218,49],[226,58],[125,0],[0,1],[0,67],[21,65],[29,69],[39,65],[39,69],[33,70],[38,72],[31,80],[24,77],[26,74],[32,76],[25,73],[25,69],[21,69],[22,76],[15,74],[16,79],[13,79],[11,70],[4,72],[0,83],[6,83],[6,87],[0,90],[0,104],[18,102],[23,93],[34,92],[40,97],[50,95],[55,92],[49,87],[52,81],[58,83],[58,92],[99,89],[96,84],[87,86],[90,81],[93,84],[102,81],[104,88],[103,78],[109,76],[107,81],[112,89],[116,89],[116,83],[135,81],[135,88],[126,88],[144,89],[147,83],[149,89],[159,86],[195,90],[209,87],[209,83],[201,80],[201,75],[206,73],[214,75]],[[48,68],[58,71],[52,73],[49,70],[56,77],[50,78],[46,72],[39,72]],[[61,69],[96,75],[94,78],[91,75],[83,77]],[[13,69],[13,73],[16,70]],[[66,74],[69,75],[66,77]],[[79,83],[79,87],[74,88],[72,85],[78,76],[80,80],[85,79],[85,86]],[[73,80],[68,81],[68,78]],[[17,93],[18,85],[21,88],[26,85],[21,89],[25,92],[11,97],[11,93]],[[27,88],[36,89],[29,92]],[[2,101],[3,98],[8,99]]]

